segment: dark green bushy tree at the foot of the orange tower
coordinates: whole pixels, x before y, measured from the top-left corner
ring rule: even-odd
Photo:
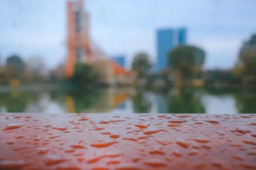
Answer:
[[[91,89],[96,84],[96,74],[91,65],[86,63],[76,63],[74,74],[70,77],[78,88]]]

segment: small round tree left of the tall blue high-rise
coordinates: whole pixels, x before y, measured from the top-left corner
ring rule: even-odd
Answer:
[[[138,53],[132,61],[132,70],[137,72],[138,78],[146,78],[152,64],[147,54]]]

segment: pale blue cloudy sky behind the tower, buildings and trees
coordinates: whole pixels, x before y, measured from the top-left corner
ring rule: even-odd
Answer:
[[[17,54],[48,68],[67,59],[67,0],[0,0],[0,64]],[[204,69],[229,69],[256,33],[255,0],[85,0],[90,37],[108,56],[146,52],[157,59],[156,31],[187,28],[189,45],[206,52]]]

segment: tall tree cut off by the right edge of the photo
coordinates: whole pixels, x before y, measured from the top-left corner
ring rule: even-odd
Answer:
[[[256,75],[256,34],[252,35],[249,41],[244,42],[240,54],[240,65],[247,75]]]

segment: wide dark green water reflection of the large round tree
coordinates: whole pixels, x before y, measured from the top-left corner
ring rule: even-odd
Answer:
[[[205,108],[192,88],[174,88],[167,99],[169,113],[205,113]]]

